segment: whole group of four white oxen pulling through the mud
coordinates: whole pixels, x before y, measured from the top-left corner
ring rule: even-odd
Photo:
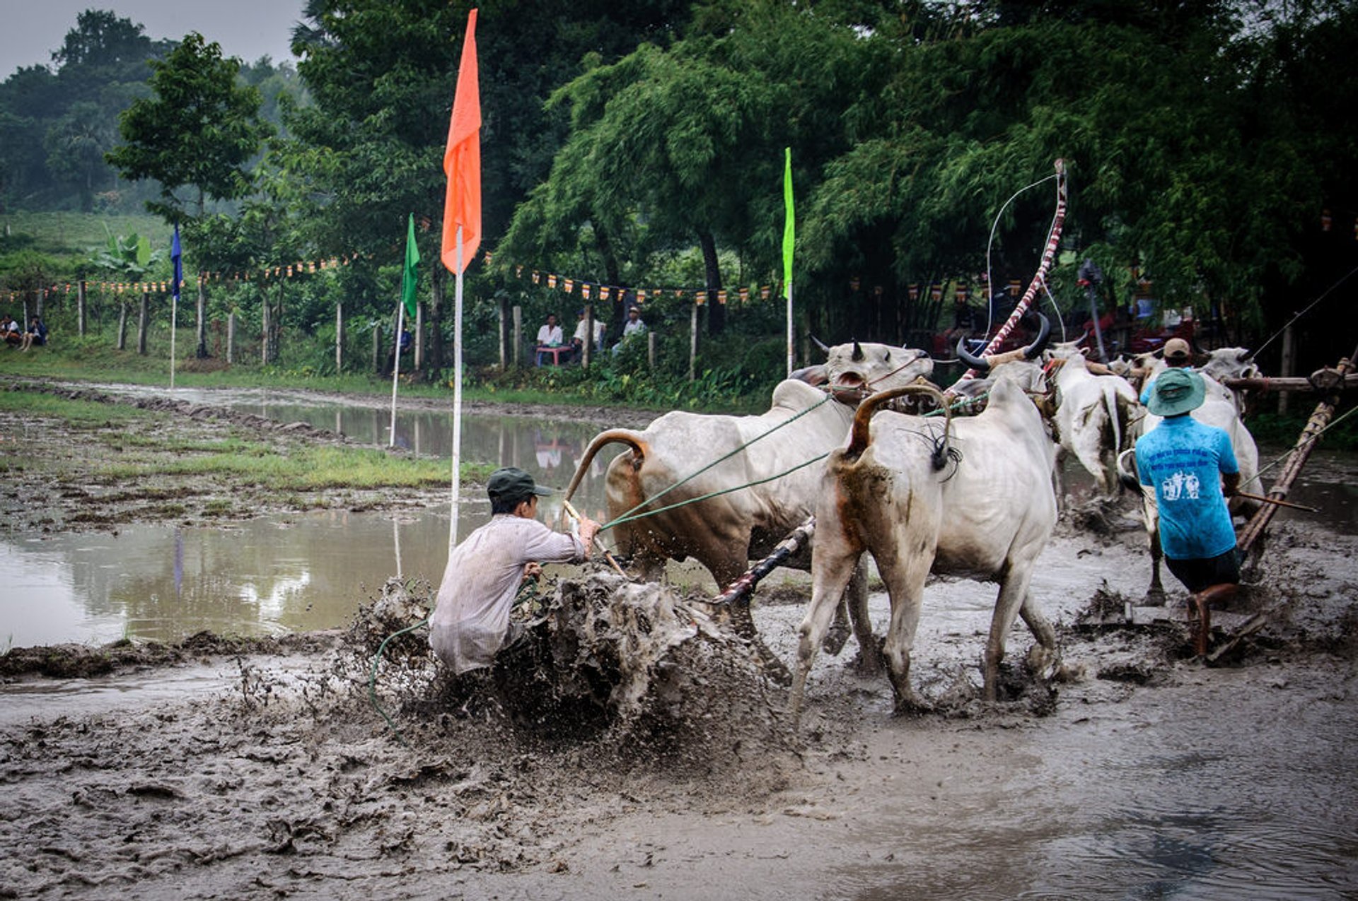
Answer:
[[[618,548],[644,578],[668,559],[693,558],[720,586],[735,582],[793,529],[813,522],[809,552],[788,566],[812,573],[811,607],[799,628],[794,704],[819,649],[838,653],[851,624],[864,665],[887,673],[898,711],[928,706],[910,683],[910,654],[930,573],[999,583],[983,655],[985,697],[995,699],[1005,636],[1016,616],[1036,638],[1029,665],[1057,664],[1055,631],[1029,593],[1062,498],[1059,463],[1070,455],[1097,491],[1135,486],[1152,550],[1150,594],[1161,594],[1154,493],[1135,478],[1135,440],[1158,419],[1138,403],[1139,385],[1165,366],[1156,354],[1109,365],[1078,342],[1050,343],[1043,320],[1027,347],[959,358],[972,377],[948,389],[930,381],[922,350],[857,341],[823,347],[819,366],[793,373],[760,415],[668,413],[646,429],[610,429],[581,455],[566,497],[595,455],[625,445],[607,468],[606,494]],[[1244,399],[1226,381],[1256,377],[1240,347],[1195,360],[1207,400],[1194,418],[1225,429],[1241,487],[1262,493],[1258,449],[1243,422]],[[974,375],[972,375],[974,373]],[[1247,502],[1232,501],[1248,514]],[[815,517],[813,521],[809,517]],[[891,598],[879,645],[866,612],[864,552]],[[754,636],[748,600],[731,609]],[[880,649],[880,650],[879,650]]]

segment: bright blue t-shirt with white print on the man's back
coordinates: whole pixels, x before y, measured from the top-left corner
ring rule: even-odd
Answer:
[[[1203,560],[1236,547],[1221,476],[1240,465],[1225,430],[1169,417],[1137,441],[1137,471],[1156,488],[1165,556]]]

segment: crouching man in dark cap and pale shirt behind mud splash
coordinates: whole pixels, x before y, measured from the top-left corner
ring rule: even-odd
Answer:
[[[490,666],[500,649],[517,639],[509,621],[519,586],[542,573],[542,563],[588,559],[599,524],[580,518],[580,533],[553,532],[538,521],[538,498],[551,494],[523,469],[490,474],[490,521],[469,535],[448,558],[429,621],[429,645],[452,672]]]

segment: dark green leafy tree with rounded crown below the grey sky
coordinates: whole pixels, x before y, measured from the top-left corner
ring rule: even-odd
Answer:
[[[160,201],[147,209],[167,220],[186,216],[182,187],[196,191],[194,214],[206,199],[250,191],[246,163],[273,129],[259,121],[259,91],[236,84],[240,62],[191,31],[164,60],[151,64],[153,96],[136,100],[118,119],[124,144],[106,159],[126,179],[160,182]]]

